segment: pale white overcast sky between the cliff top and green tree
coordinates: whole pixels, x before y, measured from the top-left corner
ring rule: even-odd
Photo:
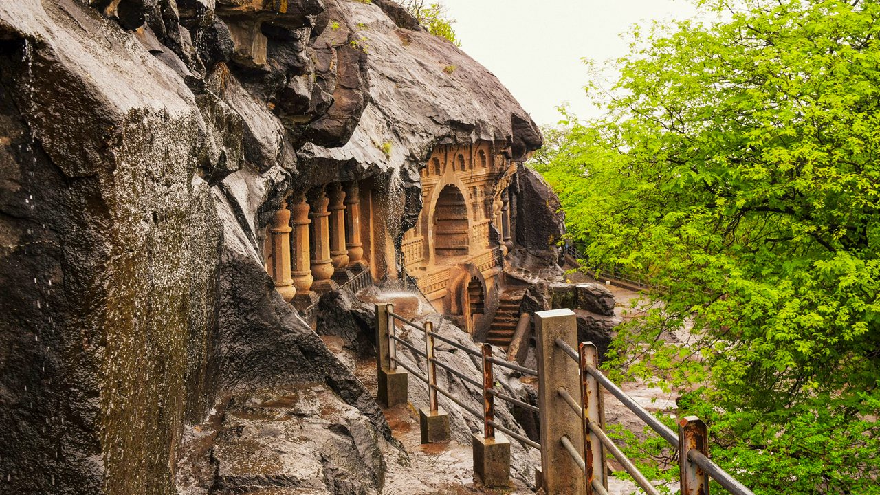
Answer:
[[[583,57],[626,55],[633,24],[691,18],[687,0],[443,0],[462,48],[495,73],[539,124],[555,123],[568,101],[577,115],[596,115],[583,86]]]

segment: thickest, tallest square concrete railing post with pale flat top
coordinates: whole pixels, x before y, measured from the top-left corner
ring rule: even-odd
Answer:
[[[559,388],[581,388],[578,363],[555,344],[557,338],[577,342],[576,316],[570,309],[535,314],[538,341],[538,383],[541,432],[541,477],[547,495],[584,495],[586,482],[581,469],[562,445],[573,440],[583,458],[583,420],[559,399]]]

